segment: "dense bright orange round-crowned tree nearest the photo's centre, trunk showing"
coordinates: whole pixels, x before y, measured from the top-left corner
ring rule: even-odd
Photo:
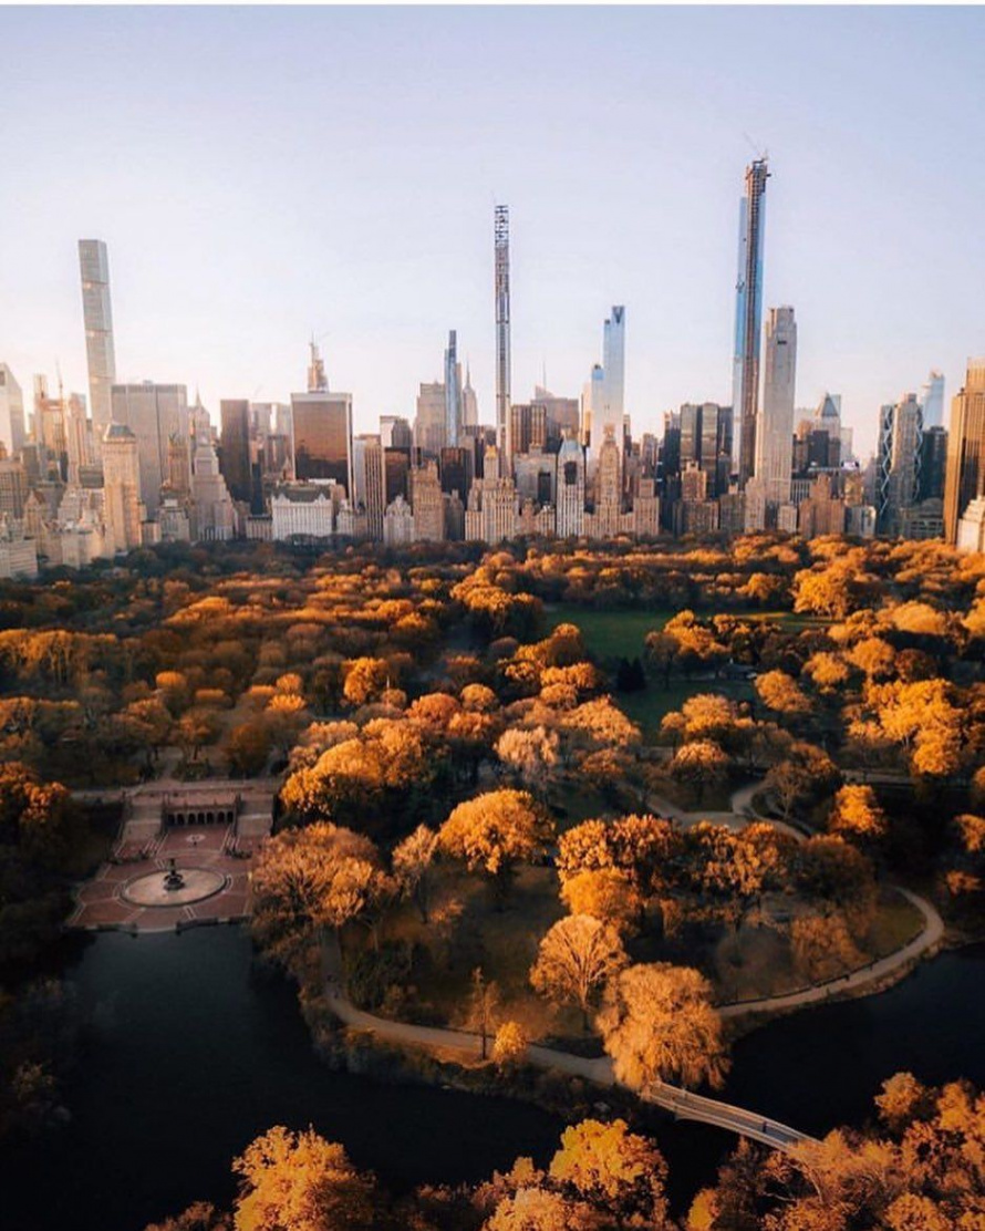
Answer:
[[[542,858],[553,836],[544,809],[525,790],[492,790],[459,804],[442,825],[438,844],[469,872],[485,875],[497,902],[517,864]]]

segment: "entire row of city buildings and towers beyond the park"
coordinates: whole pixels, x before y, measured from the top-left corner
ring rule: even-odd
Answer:
[[[635,438],[625,411],[622,305],[580,395],[537,387],[513,399],[505,206],[494,217],[490,425],[454,330],[442,379],[420,385],[412,420],[384,415],[374,433],[353,433],[352,395],[330,388],[314,342],[302,391],[223,400],[218,425],[183,384],[117,382],[106,245],[81,240],[87,398],[36,377],[26,415],[0,363],[0,575],[34,571],[38,558],[81,566],[142,544],[239,537],[396,545],[776,528],[981,549],[985,361],[969,363],[949,430],[938,372],[883,406],[877,454],[861,467],[836,394],[797,407],[794,309],[770,308],[762,321],[768,177],[765,159],[746,170],[731,405],[685,404],[664,416],[660,438]]]

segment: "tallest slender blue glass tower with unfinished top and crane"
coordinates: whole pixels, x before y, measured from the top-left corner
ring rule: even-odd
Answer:
[[[739,206],[739,277],[735,283],[735,358],[733,363],[733,470],[745,485],[756,458],[756,405],[762,332],[762,255],[766,235],[767,160],[746,167]]]

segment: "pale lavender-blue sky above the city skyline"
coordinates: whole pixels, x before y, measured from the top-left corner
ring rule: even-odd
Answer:
[[[983,9],[4,9],[0,362],[86,390],[76,243],[117,378],[288,400],[319,340],[357,431],[414,416],[449,329],[494,419],[576,396],[627,309],[634,433],[731,400],[739,198],[770,155],[765,307],[798,406],[878,407],[985,353]]]

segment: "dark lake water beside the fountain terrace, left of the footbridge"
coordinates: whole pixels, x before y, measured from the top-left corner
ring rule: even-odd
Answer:
[[[4,1231],[140,1231],[192,1200],[228,1204],[230,1160],[275,1124],[312,1124],[398,1185],[543,1160],[563,1128],[510,1099],[332,1072],[236,928],[100,936],[69,977],[96,1016],[74,1121],[0,1158]]]

